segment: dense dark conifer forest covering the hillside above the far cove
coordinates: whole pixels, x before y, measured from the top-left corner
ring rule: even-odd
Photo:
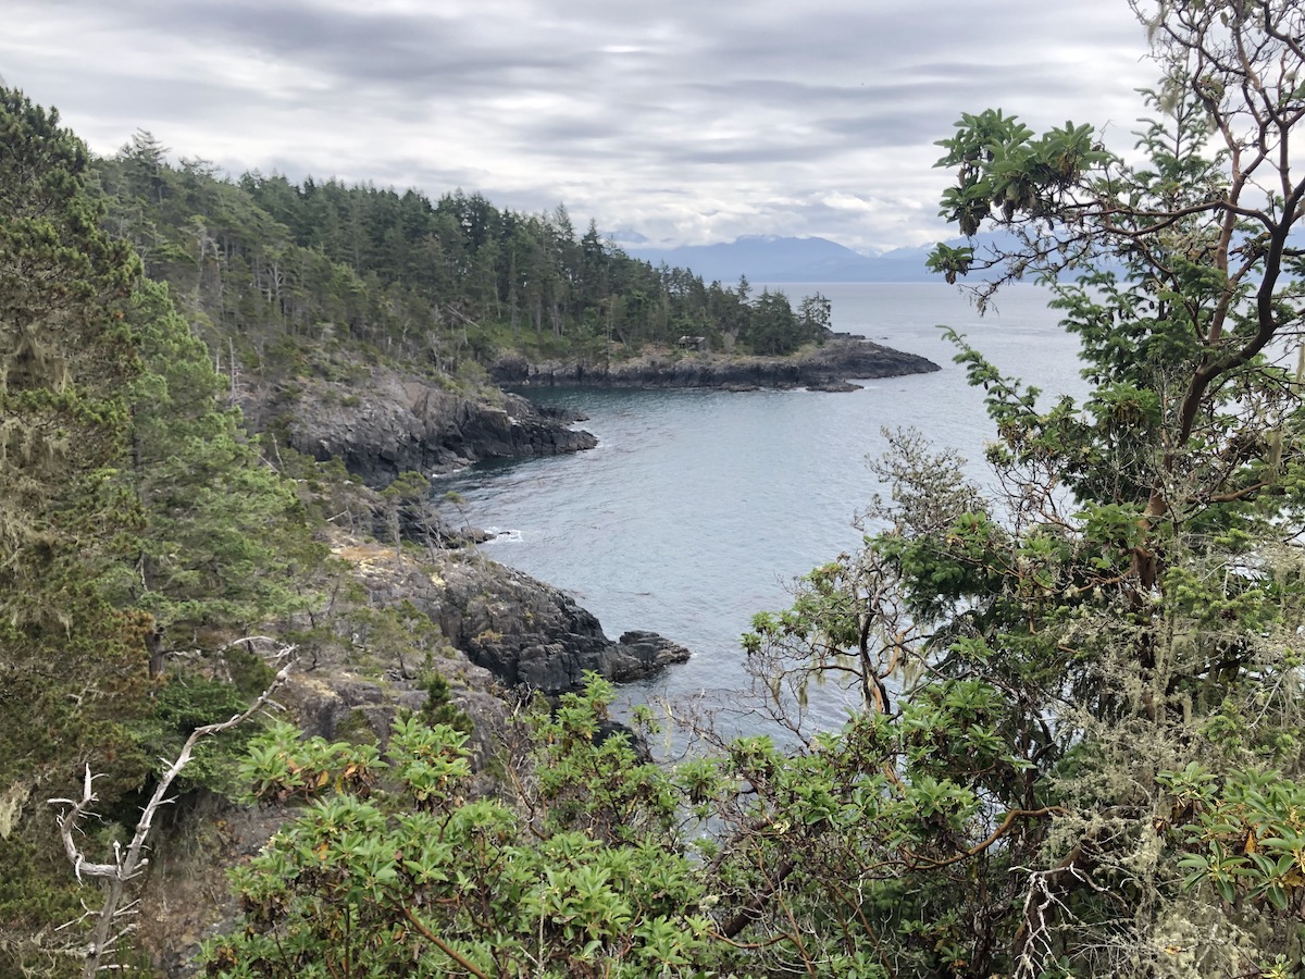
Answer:
[[[144,132],[95,168],[106,227],[210,347],[260,376],[347,351],[475,380],[474,365],[512,350],[604,360],[686,334],[778,354],[827,326],[820,302],[795,313],[746,283],[633,260],[592,223],[577,235],[561,205],[517,214],[461,191],[432,202],[311,178],[232,181],[202,161],[170,164]]]

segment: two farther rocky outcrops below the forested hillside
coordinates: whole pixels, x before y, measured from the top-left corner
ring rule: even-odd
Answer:
[[[489,368],[496,384],[595,388],[808,388],[855,390],[855,379],[897,377],[940,369],[936,363],[861,338],[834,338],[792,356],[735,356],[654,351],[619,363],[581,359],[532,362],[501,356]],[[299,377],[240,399],[256,431],[274,431],[318,461],[341,459],[371,487],[406,471],[432,475],[492,458],[529,458],[591,449],[598,440],[576,419],[506,392],[468,396],[390,367],[348,381]]]

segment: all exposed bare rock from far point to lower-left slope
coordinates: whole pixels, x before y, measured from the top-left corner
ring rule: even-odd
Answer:
[[[598,371],[581,364],[500,362],[495,379],[529,386],[594,384],[630,388],[825,388],[850,379],[936,371],[924,358],[873,343],[831,342],[805,358],[649,355]],[[495,457],[579,452],[596,440],[574,418],[512,394],[479,398],[392,368],[359,381],[296,379],[292,390],[245,393],[245,416],[317,459],[341,459],[358,478],[350,491],[373,533],[410,536],[420,547],[339,534],[331,552],[347,567],[352,602],[372,610],[411,608],[436,627],[438,649],[423,662],[354,636],[343,653],[309,653],[281,694],[288,717],[328,740],[384,744],[401,710],[427,702],[422,675],[437,672],[453,705],[470,718],[475,791],[495,794],[493,769],[514,705],[535,692],[551,698],[578,689],[589,672],[612,681],[650,676],[690,651],[652,632],[609,638],[598,619],[551,585],[497,564],[468,544],[474,533],[432,527],[418,504],[385,516],[376,492],[402,473],[429,475]],[[461,544],[461,546],[458,546]],[[424,555],[423,555],[424,551]],[[345,593],[348,589],[343,589]],[[334,600],[334,599],[333,599]],[[193,974],[196,944],[231,927],[239,909],[224,869],[257,852],[290,817],[286,805],[239,807],[192,795],[170,828],[167,846],[142,894],[141,941],[164,974]]]

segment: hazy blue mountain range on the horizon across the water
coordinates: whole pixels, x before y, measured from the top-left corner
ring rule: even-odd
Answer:
[[[692,269],[705,282],[941,282],[924,261],[933,245],[861,255],[825,238],[748,235],[710,245],[650,248],[622,243],[626,255],[652,265]]]

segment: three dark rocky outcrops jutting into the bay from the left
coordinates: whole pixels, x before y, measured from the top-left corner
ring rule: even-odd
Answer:
[[[493,364],[491,376],[525,388],[848,390],[856,386],[851,379],[937,369],[914,354],[859,337],[835,337],[787,358],[656,351],[594,365],[581,360],[534,363],[508,355]],[[598,620],[569,595],[476,555],[474,542],[483,539],[483,531],[437,526],[433,510],[420,501],[386,504],[375,492],[407,471],[433,475],[489,458],[590,449],[598,440],[574,427],[576,416],[504,392],[463,394],[392,367],[372,367],[347,381],[298,377],[282,389],[244,394],[245,418],[254,429],[271,431],[283,444],[318,461],[339,459],[368,487],[355,492],[372,512],[373,533],[389,536],[393,522],[393,533],[431,548],[437,569],[429,561],[405,561],[380,544],[352,548],[365,557],[356,573],[369,603],[389,607],[411,602],[470,664],[487,671],[500,687],[556,696],[577,689],[586,672],[626,681],[689,658],[684,646],[651,632],[608,638]],[[390,513],[388,508],[395,505],[399,509]]]

